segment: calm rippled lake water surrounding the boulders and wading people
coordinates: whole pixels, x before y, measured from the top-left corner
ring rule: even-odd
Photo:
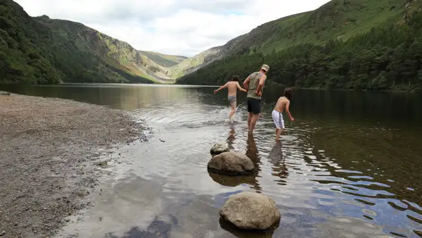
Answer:
[[[271,111],[283,89],[264,90],[262,118],[248,138],[245,94],[235,123],[226,92],[170,85],[2,87],[131,111],[150,142],[125,146],[93,194],[95,206],[58,237],[422,237],[422,95],[300,90],[281,144]],[[210,148],[226,140],[258,172],[207,172]],[[267,234],[220,223],[231,194],[270,196],[281,223]],[[73,219],[73,218],[72,218]]]

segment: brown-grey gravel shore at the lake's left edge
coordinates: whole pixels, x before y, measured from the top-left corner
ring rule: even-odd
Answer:
[[[90,206],[100,154],[146,141],[143,123],[105,106],[0,95],[0,237],[49,237]],[[98,152],[101,151],[101,152]]]

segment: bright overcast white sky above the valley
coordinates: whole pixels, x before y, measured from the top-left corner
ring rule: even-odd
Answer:
[[[145,51],[194,56],[328,0],[15,0],[32,15],[84,23]]]

